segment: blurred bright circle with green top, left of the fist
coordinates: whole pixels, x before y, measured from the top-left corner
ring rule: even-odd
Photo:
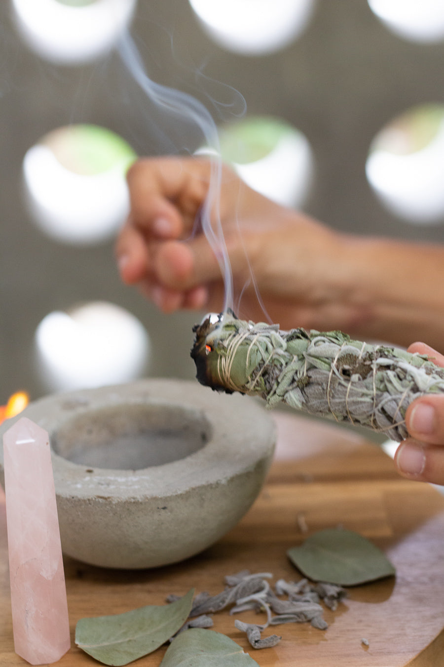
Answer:
[[[128,213],[125,173],[135,158],[126,141],[96,125],[45,135],[23,159],[33,220],[65,243],[109,239]]]

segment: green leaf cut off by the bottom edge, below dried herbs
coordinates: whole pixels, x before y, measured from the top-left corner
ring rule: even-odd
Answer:
[[[232,639],[214,630],[191,628],[172,640],[160,667],[259,667]]]

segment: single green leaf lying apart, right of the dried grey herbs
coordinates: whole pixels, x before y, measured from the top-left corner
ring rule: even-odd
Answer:
[[[383,552],[351,530],[320,530],[301,546],[289,549],[287,555],[313,581],[339,586],[356,586],[395,574]]]

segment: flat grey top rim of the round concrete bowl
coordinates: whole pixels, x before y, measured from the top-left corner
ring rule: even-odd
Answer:
[[[156,396],[150,394],[156,392]],[[192,392],[193,398],[187,398]],[[196,404],[196,396],[200,398]],[[163,380],[150,379],[139,380],[125,385],[107,386],[74,392],[61,392],[51,394],[31,403],[16,418],[7,420],[0,426],[0,436],[12,426],[19,418],[25,416],[35,421],[39,426],[49,432],[50,442],[55,424],[63,424],[65,420],[91,412],[91,403],[94,410],[112,409],[114,407],[143,406],[149,401],[150,406],[174,408],[189,408],[200,412],[204,418],[211,422],[212,434],[210,441],[200,450],[193,452],[180,460],[158,465],[140,468],[138,470],[121,470],[120,468],[94,468],[93,472],[86,472],[88,466],[77,464],[54,451],[51,445],[51,457],[53,458],[54,477],[57,495],[70,496],[94,496],[97,486],[101,488],[101,482],[114,478],[118,482],[118,488],[113,490],[107,487],[109,495],[116,491],[122,498],[138,496],[136,483],[143,481],[150,483],[150,492],[145,492],[145,497],[159,497],[171,493],[182,493],[184,490],[195,486],[201,486],[202,475],[206,475],[206,483],[212,484],[220,479],[229,478],[232,474],[246,470],[254,465],[260,448],[260,436],[266,428],[270,431],[274,426],[264,410],[246,396],[238,394],[226,395],[212,392],[196,382],[186,380]],[[236,419],[235,413],[240,412],[242,419]],[[229,423],[228,423],[229,420]],[[240,422],[236,424],[236,422]],[[245,439],[244,428],[248,422],[248,440]],[[229,440],[228,430],[232,433],[236,428],[241,428],[242,448],[238,442]],[[220,441],[224,439],[224,452],[221,453]],[[220,466],[213,465],[213,457],[218,454]],[[253,460],[252,457],[253,456]],[[184,466],[184,462],[192,463],[195,474],[182,476],[174,484],[174,488],[168,486],[168,476],[174,475]],[[3,474],[3,448],[0,448],[0,468]],[[63,474],[63,480],[59,475]]]

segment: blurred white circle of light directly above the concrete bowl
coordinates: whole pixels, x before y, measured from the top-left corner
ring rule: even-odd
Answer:
[[[35,332],[41,379],[50,391],[120,384],[146,370],[150,340],[134,315],[105,301],[54,311]]]

